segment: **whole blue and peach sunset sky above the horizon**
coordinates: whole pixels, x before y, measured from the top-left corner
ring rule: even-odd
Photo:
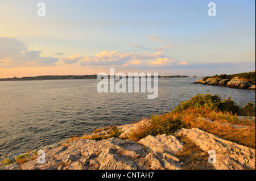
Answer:
[[[45,16],[38,3],[45,5]],[[209,16],[210,2],[216,16]],[[255,1],[0,0],[0,78],[255,70]]]

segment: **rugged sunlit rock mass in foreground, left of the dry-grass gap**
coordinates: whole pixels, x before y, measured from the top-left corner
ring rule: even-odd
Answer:
[[[152,147],[154,142],[158,142],[156,143],[158,146],[162,142],[163,146],[156,149]],[[182,148],[177,138],[166,134],[158,137],[148,136],[144,143],[150,148],[150,153],[144,150],[146,145],[143,145],[143,141],[139,144],[121,138],[102,141],[82,139],[47,151],[45,164],[39,164],[35,159],[24,163],[22,169],[182,169],[182,163],[170,153]],[[177,148],[174,148],[175,145]],[[169,152],[164,153],[164,151]]]

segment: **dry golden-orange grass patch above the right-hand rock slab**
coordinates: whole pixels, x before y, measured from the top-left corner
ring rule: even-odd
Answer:
[[[170,113],[177,114],[177,113]],[[216,134],[217,136],[224,138],[225,140],[236,142],[237,144],[242,144],[255,148],[255,122],[253,121],[240,121],[236,116],[232,117],[232,114],[216,111],[208,111],[203,107],[189,108],[188,110],[179,113],[181,120],[183,122],[184,128],[200,128],[206,132]],[[197,117],[206,117],[213,119],[213,123],[208,123],[204,120],[196,119]],[[238,125],[248,125],[254,127],[253,129],[237,129],[230,127],[228,124],[218,124],[221,123],[232,123]]]

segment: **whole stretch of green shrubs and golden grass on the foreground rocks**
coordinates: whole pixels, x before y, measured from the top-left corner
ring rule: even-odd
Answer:
[[[224,106],[226,107],[223,108]],[[252,105],[249,107],[251,108]],[[204,96],[200,94],[194,96],[191,101],[181,103],[170,113],[152,116],[150,124],[138,125],[137,129],[130,132],[129,139],[138,141],[147,135],[173,134],[180,128],[200,128],[225,140],[255,148],[255,121],[238,119],[237,113],[230,111],[234,108],[237,108],[237,105],[230,98],[223,101],[217,95]],[[204,119],[197,119],[198,117],[205,117],[214,121],[208,123]],[[238,129],[229,124],[220,123],[250,126],[251,129]]]

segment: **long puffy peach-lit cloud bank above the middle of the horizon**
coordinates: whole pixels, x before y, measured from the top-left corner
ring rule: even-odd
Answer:
[[[167,57],[163,52],[119,52],[117,50],[103,50],[94,56],[82,56],[75,54],[71,57],[76,57],[76,61],[80,61],[82,66],[94,66],[97,68],[109,68],[110,66],[123,68],[170,68],[186,66],[190,62],[178,61]],[[75,58],[69,58],[75,59]],[[68,60],[68,59],[67,59]]]

